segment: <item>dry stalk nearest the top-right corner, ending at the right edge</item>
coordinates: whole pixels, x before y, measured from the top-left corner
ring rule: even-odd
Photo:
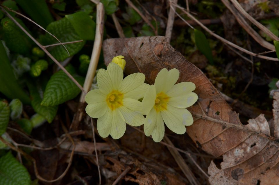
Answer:
[[[279,40],[279,38],[274,35],[267,27],[262,25],[261,23],[257,22],[256,19],[254,19],[251,15],[249,15],[242,6],[237,2],[237,0],[230,0],[232,4],[237,8],[237,10],[242,13],[249,21],[251,21],[255,26],[257,26],[260,30],[262,30],[264,33],[266,33],[270,38],[273,40]]]

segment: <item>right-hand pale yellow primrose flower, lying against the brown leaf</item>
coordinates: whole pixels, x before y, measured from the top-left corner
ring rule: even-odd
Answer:
[[[152,135],[155,142],[164,137],[165,127],[176,134],[184,134],[185,126],[193,124],[193,117],[186,109],[198,99],[192,82],[175,84],[179,78],[177,69],[162,69],[156,79],[155,85],[149,86],[142,100],[143,111],[146,114],[144,133]],[[175,85],[174,85],[175,84]]]

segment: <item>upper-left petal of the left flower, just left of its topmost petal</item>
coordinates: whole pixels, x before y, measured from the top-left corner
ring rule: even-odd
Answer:
[[[97,83],[101,93],[107,95],[113,90],[112,83],[108,72],[104,69],[99,69],[97,73]]]

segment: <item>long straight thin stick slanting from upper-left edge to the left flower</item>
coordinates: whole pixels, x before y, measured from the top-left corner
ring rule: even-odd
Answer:
[[[28,33],[28,31],[26,31],[18,22],[17,22],[17,20],[15,20],[15,18],[14,17],[12,17],[3,7],[1,7],[0,6],[0,8],[1,8],[1,10],[3,11],[3,12],[5,12],[6,13],[6,15],[10,18],[10,19],[12,19],[12,21],[13,22],[15,22],[15,24],[20,28],[20,29],[22,29],[22,31],[24,31],[24,33],[26,34],[26,35],[28,35],[28,37],[29,38],[31,38],[52,60],[53,60],[53,62],[55,62],[61,69],[62,69],[62,71],[64,71],[66,74],[67,74],[67,76],[76,84],[76,86],[78,86],[78,88],[80,88],[83,92],[84,92],[84,90],[83,90],[83,88],[81,87],[81,85],[76,81],[76,79],[74,79],[74,77],[49,53],[49,51],[47,51],[47,49],[43,46],[43,45],[41,45],[35,38],[33,38],[33,36],[32,35],[30,35],[30,33]]]

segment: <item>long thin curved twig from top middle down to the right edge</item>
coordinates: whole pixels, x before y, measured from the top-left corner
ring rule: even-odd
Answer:
[[[177,5],[177,4],[174,4],[174,6],[176,6],[177,8],[179,8],[180,10],[182,10],[185,14],[187,14],[187,16],[191,19],[193,19],[198,25],[200,25],[205,31],[207,31],[210,35],[216,37],[217,39],[221,40],[221,42],[224,42],[240,51],[243,51],[244,53],[246,54],[249,54],[249,55],[252,55],[252,56],[256,56],[258,58],[263,58],[263,59],[266,59],[266,60],[270,60],[270,61],[279,61],[278,58],[273,58],[273,57],[268,57],[268,56],[262,56],[262,55],[257,55],[251,51],[248,51],[226,39],[224,39],[223,37],[217,35],[216,33],[212,32],[210,29],[208,29],[205,25],[203,25],[201,22],[199,22],[194,16],[192,16],[190,13],[188,13],[184,8],[182,8],[181,6]]]

